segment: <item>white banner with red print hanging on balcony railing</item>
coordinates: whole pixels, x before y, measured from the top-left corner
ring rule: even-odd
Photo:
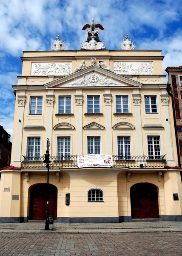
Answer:
[[[112,167],[112,155],[103,154],[88,154],[77,157],[77,166],[79,168],[84,167]]]

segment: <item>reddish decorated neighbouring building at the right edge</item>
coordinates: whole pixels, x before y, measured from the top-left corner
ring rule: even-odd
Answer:
[[[179,166],[182,166],[182,66],[167,67],[168,83],[171,84],[173,110],[176,119],[176,138],[178,144]],[[170,88],[169,88],[170,89]]]

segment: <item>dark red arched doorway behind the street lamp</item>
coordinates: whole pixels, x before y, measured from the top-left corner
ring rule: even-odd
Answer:
[[[45,220],[47,203],[47,184],[37,184],[30,189],[29,219]],[[49,184],[49,214],[53,212],[57,219],[57,187]]]

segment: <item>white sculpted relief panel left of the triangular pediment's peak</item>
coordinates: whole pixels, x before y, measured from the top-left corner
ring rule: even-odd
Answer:
[[[31,76],[66,76],[72,73],[72,62],[32,62]]]

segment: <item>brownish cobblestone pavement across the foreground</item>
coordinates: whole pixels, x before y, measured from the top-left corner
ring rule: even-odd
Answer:
[[[181,256],[182,232],[0,233],[0,256]]]

